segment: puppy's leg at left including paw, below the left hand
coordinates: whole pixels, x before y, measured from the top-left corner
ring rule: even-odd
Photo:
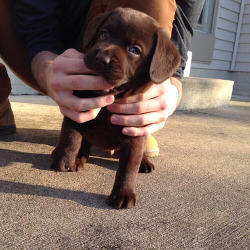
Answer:
[[[76,172],[76,157],[81,147],[79,124],[64,117],[60,140],[50,156],[50,167],[61,172]]]

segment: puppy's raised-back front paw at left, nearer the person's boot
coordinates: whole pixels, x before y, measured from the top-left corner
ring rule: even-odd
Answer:
[[[50,168],[59,172],[76,172],[78,164],[77,160],[71,154],[54,149],[50,156]]]

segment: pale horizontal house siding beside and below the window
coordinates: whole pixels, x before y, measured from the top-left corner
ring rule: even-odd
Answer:
[[[234,80],[234,94],[250,96],[250,0],[246,0],[234,70],[231,71],[241,0],[220,0],[211,63],[192,62],[191,76]]]

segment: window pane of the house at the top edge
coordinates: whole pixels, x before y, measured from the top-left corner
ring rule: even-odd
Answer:
[[[205,33],[212,32],[215,0],[206,0],[196,29]]]

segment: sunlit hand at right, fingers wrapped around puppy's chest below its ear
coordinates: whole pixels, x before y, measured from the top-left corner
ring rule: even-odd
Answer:
[[[162,129],[168,116],[175,111],[178,96],[178,90],[170,80],[154,84],[143,94],[109,105],[108,110],[115,113],[111,123],[124,126],[122,133],[129,136],[152,134]]]

